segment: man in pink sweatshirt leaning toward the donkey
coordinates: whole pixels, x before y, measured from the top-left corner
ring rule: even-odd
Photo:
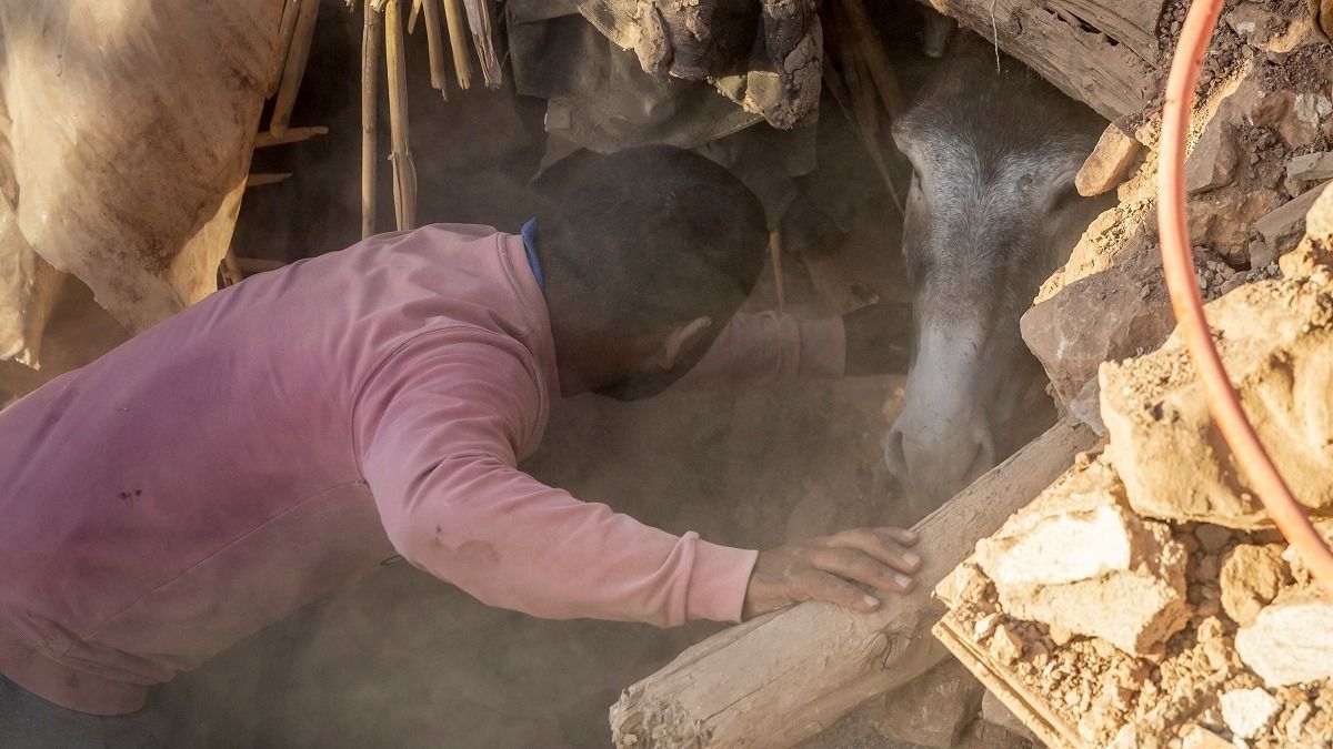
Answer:
[[[152,745],[148,686],[393,554],[495,606],[661,626],[910,586],[905,530],[756,553],[520,472],[557,397],[651,396],[710,349],[696,386],[736,352],[769,376],[901,365],[866,316],[717,341],[766,231],[700,156],[609,157],[539,228],[435,225],[265,273],[0,412],[0,745]],[[745,349],[765,336],[768,360]]]

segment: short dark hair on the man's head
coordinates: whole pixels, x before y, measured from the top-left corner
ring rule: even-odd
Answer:
[[[588,167],[539,231],[548,287],[576,292],[581,316],[625,333],[708,316],[708,344],[754,288],[768,243],[754,193],[666,145]]]

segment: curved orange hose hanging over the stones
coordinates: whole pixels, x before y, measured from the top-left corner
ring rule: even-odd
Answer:
[[[1221,9],[1222,0],[1194,0],[1190,4],[1166,80],[1157,173],[1157,225],[1166,291],[1189,348],[1189,357],[1204,381],[1208,410],[1222,438],[1277,529],[1296,546],[1314,578],[1333,596],[1333,550],[1329,550],[1314,529],[1305,508],[1296,501],[1245,416],[1217,347],[1213,345],[1212,331],[1204,317],[1204,300],[1194,280],[1194,261],[1185,223],[1185,133],[1189,132],[1194,84]]]

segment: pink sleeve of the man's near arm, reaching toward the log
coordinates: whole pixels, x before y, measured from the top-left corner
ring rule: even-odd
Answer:
[[[537,377],[513,339],[455,328],[393,353],[353,414],[361,472],[404,558],[547,618],[738,621],[756,552],[673,536],[517,469]]]

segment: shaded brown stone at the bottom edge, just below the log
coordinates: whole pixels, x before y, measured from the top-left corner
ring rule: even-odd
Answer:
[[[884,737],[948,749],[981,709],[985,688],[958,661],[949,660],[885,696],[870,722]]]

